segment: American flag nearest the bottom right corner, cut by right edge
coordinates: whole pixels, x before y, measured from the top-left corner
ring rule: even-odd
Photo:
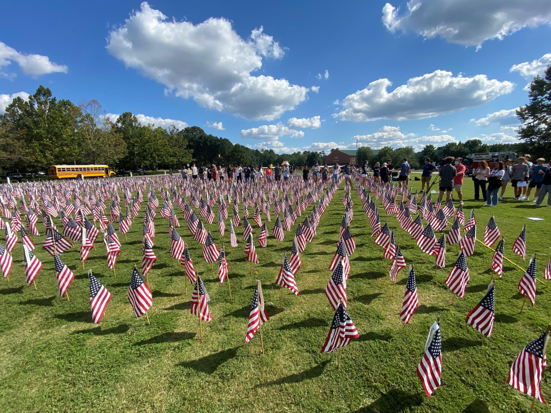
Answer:
[[[545,403],[541,392],[543,370],[547,368],[545,347],[549,341],[549,328],[536,340],[529,343],[516,356],[509,369],[509,385],[522,393],[535,397]]]

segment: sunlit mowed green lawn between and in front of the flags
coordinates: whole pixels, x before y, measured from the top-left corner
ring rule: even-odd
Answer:
[[[412,181],[413,188],[420,182]],[[341,189],[344,184],[341,184]],[[465,215],[474,207],[477,237],[482,240],[491,214],[505,235],[505,256],[515,238],[527,228],[527,255],[538,257],[537,276],[543,279],[551,254],[551,208],[532,208],[528,202],[503,202],[498,208],[482,208],[474,202],[472,181],[466,180]],[[465,323],[465,318],[485,295],[494,272],[493,252],[477,243],[469,260],[471,282],[466,296],[456,298],[444,280],[455,263],[458,246],[448,247],[446,268],[434,270],[434,258],[420,251],[412,238],[399,228],[396,218],[386,217],[377,202],[381,221],[396,231],[408,264],[415,264],[419,307],[407,333],[399,319],[407,272],[398,275],[395,295],[388,276],[389,261],[380,257],[380,248],[370,238],[368,216],[352,191],[354,218],[351,225],[356,252],[350,260],[347,283],[348,311],[360,334],[342,351],[342,371],[337,354],[320,354],[333,311],[323,290],[331,272],[327,270],[336,250],[343,214],[344,191],[336,192],[321,218],[314,242],[301,254],[302,268],[296,275],[300,296],[289,290],[281,295],[274,284],[281,255],[289,252],[292,233],[285,241],[268,238],[267,256],[257,249],[260,264],[245,262],[242,225],[236,228],[239,247],[229,246],[229,220],[220,240],[218,225],[213,237],[225,243],[229,262],[228,285],[220,286],[217,265],[214,271],[202,257],[179,212],[178,231],[190,242],[193,264],[210,294],[213,320],[203,323],[199,342],[198,318],[190,314],[192,286],[179,262],[169,254],[168,221],[155,219],[153,247],[158,261],[149,275],[153,307],[145,317],[134,318],[127,300],[133,263],[141,263],[142,224],[136,219],[128,240],[120,236],[122,252],[114,276],[106,267],[105,246],[98,242],[86,263],[113,295],[99,326],[91,323],[89,285],[76,248],[62,254],[75,274],[69,289],[70,302],[58,295],[53,260],[41,248],[42,233],[35,237],[36,255],[44,264],[36,283],[24,281],[20,241],[14,250],[10,281],[0,286],[0,409],[2,411],[152,411],[152,412],[279,412],[279,411],[365,411],[365,412],[498,412],[528,411],[531,398],[507,384],[509,363],[522,348],[542,334],[551,322],[551,287],[538,282],[536,306],[527,302],[519,313],[522,298],[517,284],[523,270],[505,261],[504,276],[496,281],[495,325],[490,339]],[[509,198],[512,189],[507,189]],[[433,200],[436,195],[433,194]],[[160,198],[159,198],[160,199]],[[420,199],[420,198],[419,198]],[[311,208],[308,209],[310,212]],[[250,209],[252,216],[252,210]],[[543,218],[531,221],[528,216]],[[299,218],[300,222],[304,219]],[[271,235],[274,219],[269,223]],[[255,227],[255,240],[260,230]],[[293,227],[294,231],[294,227]],[[447,230],[446,230],[447,232]],[[2,243],[4,241],[2,240]],[[527,267],[522,259],[522,268]],[[255,279],[262,281],[268,303],[269,322],[262,328],[265,355],[260,337],[244,344]],[[187,285],[187,294],[186,294]],[[280,309],[283,297],[283,309]],[[424,354],[431,323],[440,317],[442,332],[442,385],[427,398],[415,373]],[[544,372],[544,399],[551,399],[551,373]],[[536,403],[534,411],[549,411]]]

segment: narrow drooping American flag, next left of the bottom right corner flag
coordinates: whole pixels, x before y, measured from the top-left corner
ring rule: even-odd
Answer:
[[[417,376],[427,396],[431,396],[440,385],[442,375],[442,338],[440,325],[434,322],[426,339],[425,354],[417,366]]]

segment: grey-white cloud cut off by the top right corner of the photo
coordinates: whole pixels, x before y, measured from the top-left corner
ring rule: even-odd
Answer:
[[[425,39],[439,36],[477,49],[486,40],[551,22],[547,0],[409,0],[406,7],[400,13],[385,4],[381,20],[388,31],[414,32]]]

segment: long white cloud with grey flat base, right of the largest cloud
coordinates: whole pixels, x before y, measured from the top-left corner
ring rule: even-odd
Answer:
[[[388,79],[372,81],[345,97],[342,111],[333,117],[353,122],[423,119],[482,105],[514,89],[510,81],[488,79],[484,74],[453,76],[445,70],[409,79],[389,93],[391,85]]]

